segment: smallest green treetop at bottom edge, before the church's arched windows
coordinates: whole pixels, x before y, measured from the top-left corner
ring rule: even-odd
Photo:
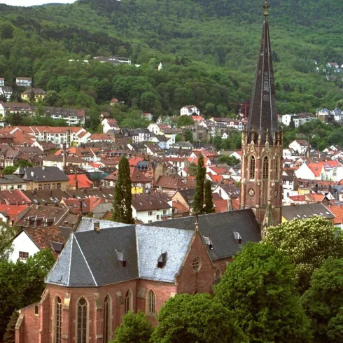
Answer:
[[[146,315],[139,309],[137,314],[127,312],[123,317],[123,323],[116,328],[112,343],[148,343],[153,333],[151,321],[146,320]]]

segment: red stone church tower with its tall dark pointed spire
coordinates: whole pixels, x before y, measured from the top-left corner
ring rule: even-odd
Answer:
[[[264,8],[248,125],[241,137],[241,209],[253,209],[261,225],[262,237],[269,226],[281,223],[283,149],[283,135],[276,114],[267,0]]]

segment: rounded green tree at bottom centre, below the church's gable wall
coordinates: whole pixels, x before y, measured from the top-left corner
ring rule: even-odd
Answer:
[[[158,314],[154,343],[247,342],[232,313],[209,294],[178,294]]]

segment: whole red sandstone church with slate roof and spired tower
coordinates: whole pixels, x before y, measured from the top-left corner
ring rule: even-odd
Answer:
[[[155,325],[179,293],[212,293],[232,257],[281,222],[279,131],[268,6],[246,131],[241,209],[146,225],[82,218],[45,279],[41,300],[19,311],[16,343],[106,343],[127,311]]]

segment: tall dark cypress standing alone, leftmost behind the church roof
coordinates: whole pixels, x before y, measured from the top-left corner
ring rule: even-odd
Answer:
[[[119,162],[118,179],[114,188],[112,221],[134,224],[131,191],[130,165],[127,158],[123,157]]]

